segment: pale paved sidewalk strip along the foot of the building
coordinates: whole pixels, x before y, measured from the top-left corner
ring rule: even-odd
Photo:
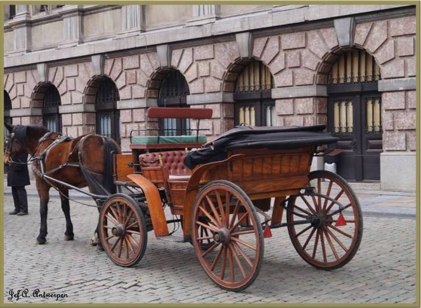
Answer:
[[[353,187],[353,183],[350,183]],[[361,184],[356,186],[354,192],[359,198],[363,214],[373,215],[393,215],[393,216],[415,216],[416,213],[416,193],[395,192],[384,190],[365,190]],[[38,195],[35,187],[35,181],[31,181],[30,186],[26,186],[28,195]],[[370,188],[370,186],[368,186]],[[87,190],[86,190],[87,191]],[[11,193],[11,188],[7,187],[4,180],[4,193]],[[50,191],[51,197],[58,197],[58,192],[53,188]],[[91,199],[88,195],[79,193],[76,190],[70,190],[70,197]]]

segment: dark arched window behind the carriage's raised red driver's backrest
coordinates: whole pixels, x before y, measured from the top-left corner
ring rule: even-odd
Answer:
[[[163,78],[159,88],[158,106],[187,108],[187,95],[189,85],[180,71],[171,71]],[[190,130],[189,119],[160,119],[159,134],[175,136],[188,134]]]

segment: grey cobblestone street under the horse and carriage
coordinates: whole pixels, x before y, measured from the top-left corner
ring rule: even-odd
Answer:
[[[192,245],[148,234],[145,256],[132,268],[115,265],[90,245],[98,211],[71,202],[75,240],[64,241],[65,218],[52,197],[48,242],[36,244],[39,198],[29,195],[29,216],[9,216],[4,196],[4,301],[15,303],[413,303],[415,217],[364,216],[359,252],[345,267],[326,272],[300,258],[286,228],[265,239],[258,279],[241,293],[216,286],[201,268]],[[91,200],[83,202],[93,204]],[[172,225],[169,225],[171,230]],[[179,234],[180,230],[178,231]],[[8,300],[27,289],[27,297]],[[65,297],[36,297],[55,293]]]

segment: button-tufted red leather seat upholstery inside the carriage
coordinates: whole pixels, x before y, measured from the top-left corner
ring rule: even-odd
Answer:
[[[190,175],[192,171],[184,165],[185,151],[164,151],[139,155],[140,167],[159,167],[159,156],[169,176]]]

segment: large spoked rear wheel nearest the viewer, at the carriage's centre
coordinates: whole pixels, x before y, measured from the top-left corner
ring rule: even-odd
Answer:
[[[225,290],[250,286],[264,250],[262,225],[250,198],[234,183],[212,181],[193,207],[193,246],[206,274]]]

